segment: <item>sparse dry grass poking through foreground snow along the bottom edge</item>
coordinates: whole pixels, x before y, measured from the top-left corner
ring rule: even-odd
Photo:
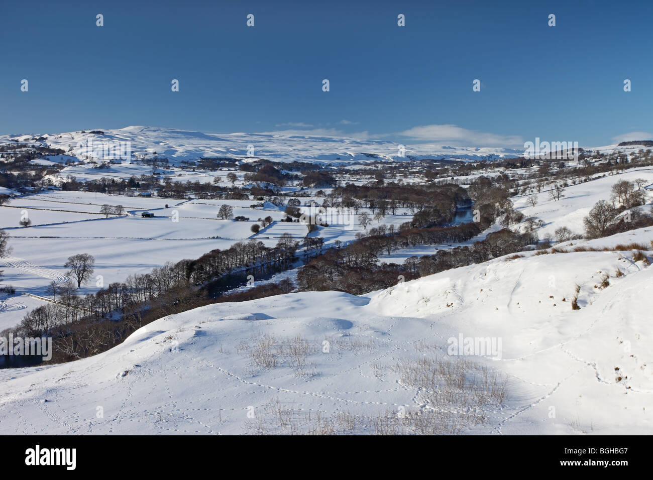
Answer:
[[[300,342],[296,342],[300,345]],[[424,350],[427,344],[416,345]],[[400,406],[372,415],[338,410],[304,411],[277,399],[255,410],[244,425],[255,435],[434,435],[460,434],[486,423],[483,408],[500,408],[507,396],[507,380],[470,360],[419,357],[393,368],[400,382],[419,391],[421,405]]]

